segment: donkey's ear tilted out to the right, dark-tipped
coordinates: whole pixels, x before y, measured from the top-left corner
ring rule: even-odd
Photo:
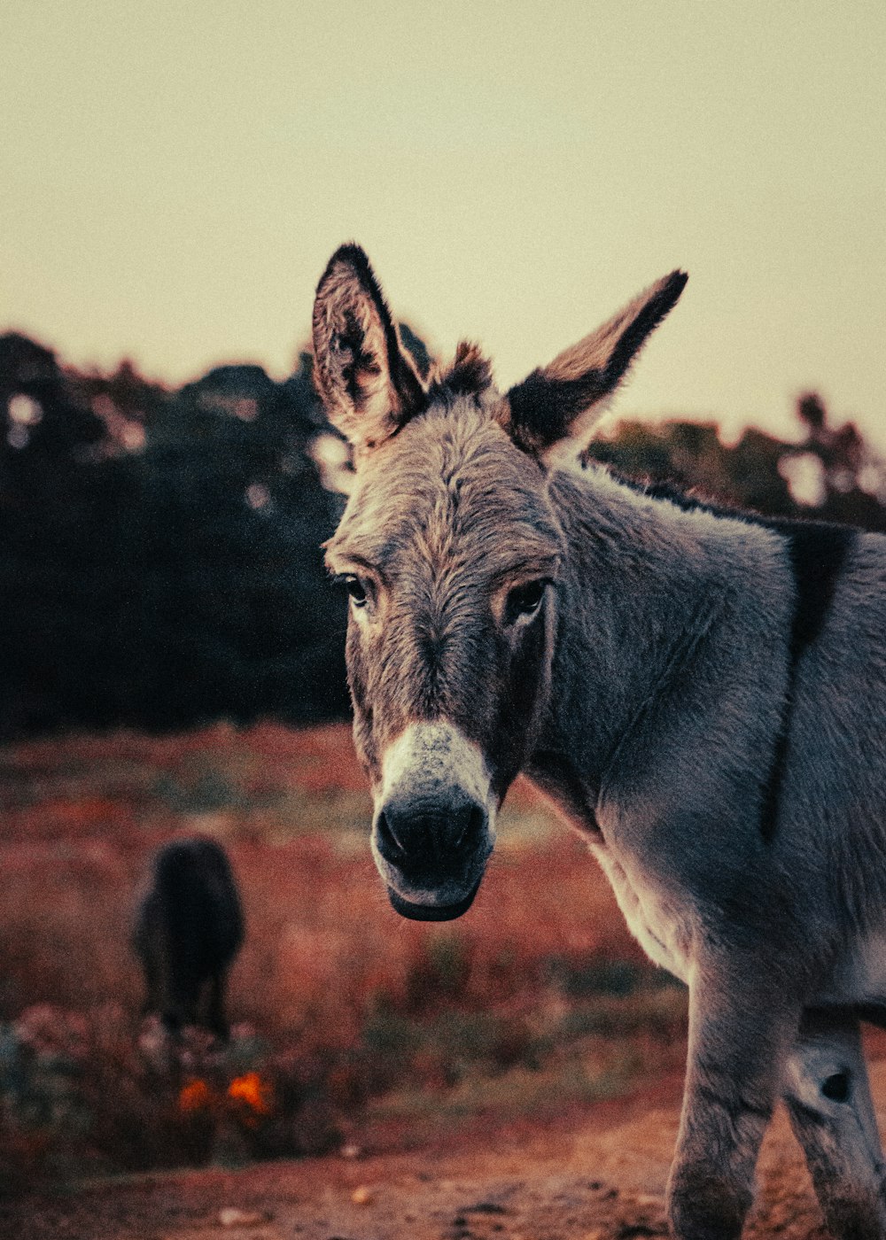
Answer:
[[[607,401],[687,279],[684,272],[665,275],[550,366],[512,387],[500,405],[500,422],[514,441],[539,458],[565,440],[586,448]]]

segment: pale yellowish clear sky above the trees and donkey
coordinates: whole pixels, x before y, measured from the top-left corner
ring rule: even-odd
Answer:
[[[521,379],[690,281],[614,412],[886,450],[882,0],[27,0],[0,16],[0,331],[274,377],[330,253]]]

